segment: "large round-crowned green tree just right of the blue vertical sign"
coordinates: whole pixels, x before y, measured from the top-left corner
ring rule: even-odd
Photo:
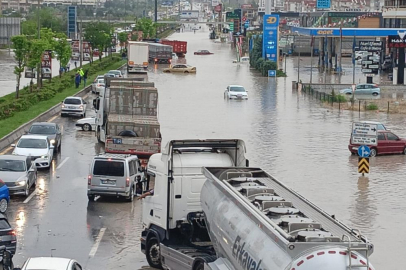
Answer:
[[[111,46],[112,28],[109,24],[103,22],[91,22],[86,26],[85,40],[92,44],[93,48],[103,52],[104,49]],[[99,54],[101,61],[101,53]]]

